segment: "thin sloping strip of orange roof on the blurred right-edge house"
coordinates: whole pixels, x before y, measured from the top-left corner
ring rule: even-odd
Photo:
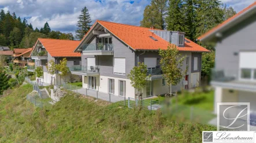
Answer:
[[[224,26],[225,24],[228,24],[228,22],[232,21],[233,19],[235,19],[236,17],[240,16],[241,14],[243,14],[245,11],[251,9],[251,7],[255,6],[256,2],[254,2],[253,4],[251,4],[250,6],[246,7],[245,9],[243,9],[242,11],[240,11],[239,13],[235,14],[235,16],[228,18],[228,20],[222,22],[221,24],[217,25],[216,27],[214,27],[213,29],[210,29],[208,32],[206,32],[205,34],[203,34],[202,36],[198,37],[198,40],[201,40],[202,38],[208,36],[209,34],[213,33],[215,30],[217,30],[218,28],[221,28],[221,26]]]

